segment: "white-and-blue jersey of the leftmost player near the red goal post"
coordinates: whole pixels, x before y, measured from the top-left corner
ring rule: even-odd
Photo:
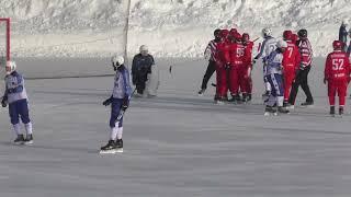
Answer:
[[[19,100],[27,100],[26,91],[24,88],[24,79],[22,74],[20,74],[16,71],[13,71],[4,78],[4,96],[8,97],[9,104]]]

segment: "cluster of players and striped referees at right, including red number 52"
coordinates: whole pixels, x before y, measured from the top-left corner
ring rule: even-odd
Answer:
[[[259,46],[259,54],[252,59],[253,42],[248,33],[242,35],[236,30],[215,30],[215,38],[211,40],[204,53],[208,58],[208,67],[204,76],[199,94],[206,90],[206,84],[216,71],[215,103],[247,103],[251,101],[251,71],[257,60],[262,59],[264,115],[288,114],[294,108],[298,86],[306,94],[303,106],[314,105],[308,73],[313,62],[313,49],[307,38],[307,31],[299,30],[283,32],[283,39],[272,37],[272,31],[262,30],[263,43]],[[335,96],[338,93],[339,114],[343,114],[343,105],[350,81],[350,63],[347,53],[342,51],[342,43],[335,40],[333,53],[326,62],[325,80],[328,82],[330,114],[335,115]],[[228,97],[228,92],[231,97]],[[241,95],[240,95],[241,94]]]

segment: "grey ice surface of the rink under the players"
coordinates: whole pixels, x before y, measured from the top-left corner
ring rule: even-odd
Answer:
[[[252,104],[217,106],[214,88],[196,95],[205,60],[159,60],[159,96],[133,99],[124,153],[115,155],[98,153],[109,139],[110,108],[101,103],[113,77],[27,80],[34,144],[11,144],[2,108],[0,196],[349,197],[350,107],[343,118],[328,116],[322,61],[310,73],[315,107],[264,117],[259,68]],[[18,65],[27,78],[110,71],[109,58]]]

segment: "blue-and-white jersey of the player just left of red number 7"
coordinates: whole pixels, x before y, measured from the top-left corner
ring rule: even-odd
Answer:
[[[273,50],[269,56],[263,59],[267,62],[265,76],[282,74],[282,61],[283,54],[278,50]]]

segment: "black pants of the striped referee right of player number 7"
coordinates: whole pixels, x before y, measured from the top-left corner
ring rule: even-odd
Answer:
[[[296,100],[296,95],[297,95],[299,85],[307,96],[306,102],[308,102],[308,103],[314,102],[314,99],[310,94],[310,90],[308,86],[308,81],[307,81],[309,70],[310,70],[310,66],[307,67],[305,70],[299,70],[298,73],[296,74],[296,78],[295,78],[295,81],[293,82],[292,91],[291,91],[290,97],[288,97],[290,104],[292,104],[292,105],[295,104],[295,100]]]

